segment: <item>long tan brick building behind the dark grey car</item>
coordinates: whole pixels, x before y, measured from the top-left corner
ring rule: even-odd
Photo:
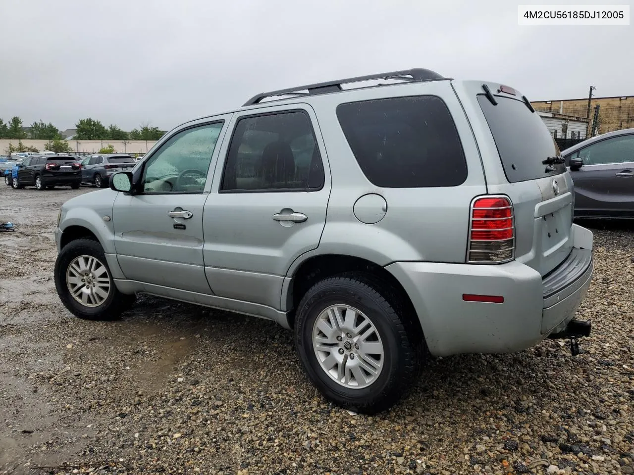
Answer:
[[[557,99],[556,101],[531,102],[535,110],[554,112],[559,114],[587,117],[588,98],[585,99]],[[594,117],[595,106],[599,108],[598,132],[612,132],[612,130],[630,129],[634,127],[634,96],[614,96],[610,98],[592,98],[590,104],[590,119]]]

